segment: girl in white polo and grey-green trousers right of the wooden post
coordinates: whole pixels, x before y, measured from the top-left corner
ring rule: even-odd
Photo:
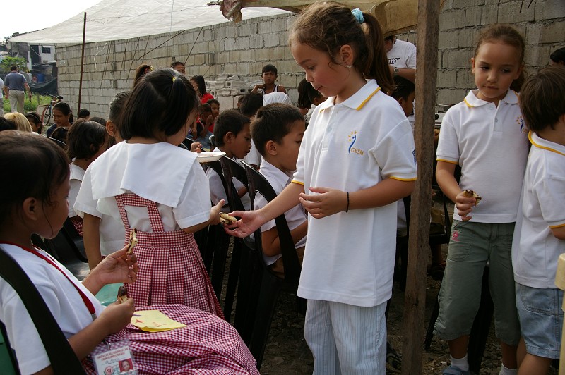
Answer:
[[[467,346],[487,262],[501,340],[500,374],[517,371],[520,327],[511,247],[528,137],[514,90],[523,82],[523,61],[524,41],[516,30],[506,25],[484,30],[471,59],[477,89],[451,107],[441,123],[436,179],[456,204],[434,329],[449,344],[451,365],[443,374],[470,374]],[[457,164],[459,183],[453,175]],[[464,190],[474,190],[482,197],[480,204]]]

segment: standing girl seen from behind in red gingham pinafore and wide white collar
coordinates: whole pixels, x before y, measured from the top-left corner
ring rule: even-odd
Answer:
[[[120,142],[85,173],[97,209],[137,230],[136,306],[179,303],[222,316],[193,233],[218,223],[196,154],[177,147],[194,122],[196,92],[172,69],[136,85],[121,114]]]

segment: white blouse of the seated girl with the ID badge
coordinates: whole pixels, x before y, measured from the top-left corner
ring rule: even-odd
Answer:
[[[72,283],[81,288],[88,299],[93,302],[97,316],[104,309],[94,295],[57,260],[52,258],[53,262],[69,276],[72,283],[61,271],[37,255],[14,245],[2,244],[2,247],[25,269],[25,273],[39,290],[66,338],[70,338],[93,322],[88,308]],[[38,251],[50,257],[42,250]],[[33,374],[49,366],[49,357],[47,357],[47,352],[45,352],[28,310],[16,291],[2,278],[0,278],[0,321],[6,325],[8,340],[11,347],[16,350],[22,374]]]

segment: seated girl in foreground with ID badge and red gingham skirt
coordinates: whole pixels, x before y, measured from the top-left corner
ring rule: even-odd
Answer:
[[[25,270],[87,374],[95,374],[90,352],[100,343],[107,349],[124,340],[129,340],[139,374],[258,374],[255,359],[237,331],[214,314],[186,305],[135,308],[131,298],[100,305],[94,295],[103,285],[136,283],[136,254],[127,254],[126,247],[109,254],[81,282],[33,246],[33,233],[54,238],[67,218],[69,159],[54,142],[31,133],[1,132],[0,173],[10,176],[0,184],[0,252]],[[186,326],[143,332],[130,324],[136,309],[158,309]],[[28,309],[4,278],[0,278],[0,321],[21,374],[64,373],[52,368]]]

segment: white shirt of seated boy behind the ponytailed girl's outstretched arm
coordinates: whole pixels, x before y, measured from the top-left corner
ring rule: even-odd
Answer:
[[[287,187],[287,185],[292,180],[292,173],[285,173],[281,171],[279,168],[276,168],[275,166],[273,166],[273,164],[270,164],[265,159],[261,161],[261,174],[265,177],[268,183],[270,183],[270,185],[273,187],[273,190],[275,190],[275,194],[277,195],[283,192],[283,190],[285,190],[285,187]],[[267,199],[265,199],[263,195],[257,194],[255,196],[255,201],[253,204],[254,209],[261,209],[266,205]],[[285,212],[285,219],[287,219],[288,228],[290,230],[293,230],[300,224],[304,223],[304,221],[308,219],[308,216],[306,215],[306,211],[304,211],[302,204],[297,204],[295,207],[292,207],[292,209],[289,209]],[[275,226],[277,226],[275,219],[268,221],[261,226],[261,232],[266,232],[267,230],[275,228]],[[299,247],[303,247],[304,245],[306,245],[306,236],[295,243],[295,248],[298,249]],[[265,264],[269,266],[270,264],[275,263],[277,259],[282,256],[282,254],[278,254],[274,257],[268,257],[263,254],[263,259],[265,259]]]

